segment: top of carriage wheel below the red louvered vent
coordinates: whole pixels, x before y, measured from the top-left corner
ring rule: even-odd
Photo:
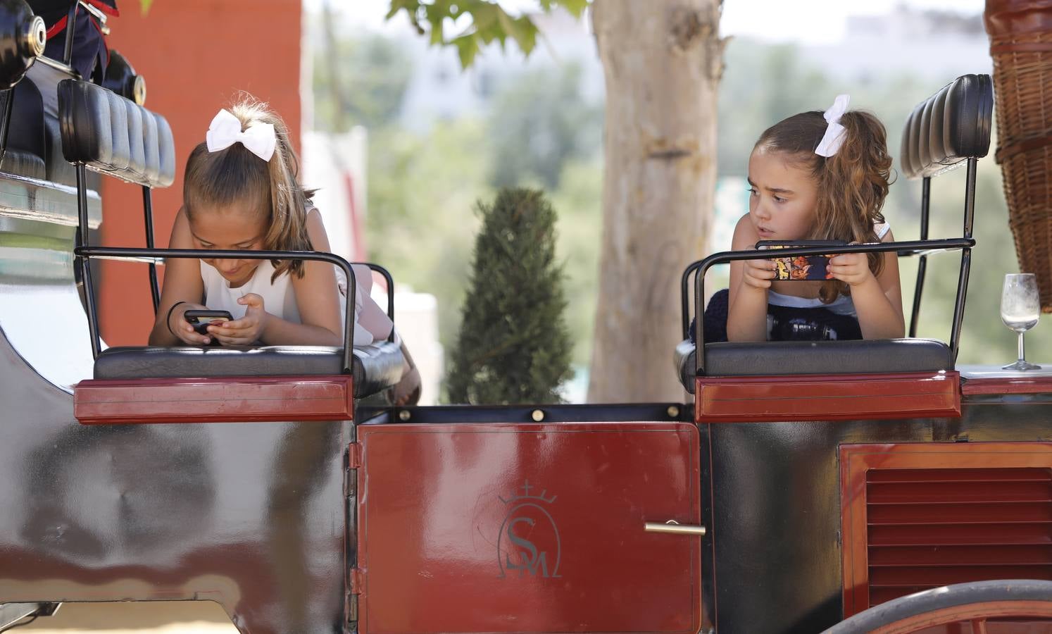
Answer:
[[[926,590],[859,612],[825,634],[908,634],[950,623],[970,623],[972,634],[986,634],[988,619],[1006,617],[1052,619],[1052,581],[973,581]]]

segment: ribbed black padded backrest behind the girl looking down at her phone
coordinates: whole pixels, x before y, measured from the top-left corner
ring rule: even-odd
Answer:
[[[86,81],[59,82],[62,154],[70,163],[148,187],[176,177],[176,148],[164,117]]]

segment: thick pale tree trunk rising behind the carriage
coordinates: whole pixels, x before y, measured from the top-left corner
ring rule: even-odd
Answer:
[[[595,0],[606,77],[591,402],[682,401],[680,275],[704,256],[716,175],[720,0]]]

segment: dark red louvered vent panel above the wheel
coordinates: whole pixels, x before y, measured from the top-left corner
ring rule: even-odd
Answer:
[[[948,583],[1052,579],[1052,470],[870,469],[870,606]]]

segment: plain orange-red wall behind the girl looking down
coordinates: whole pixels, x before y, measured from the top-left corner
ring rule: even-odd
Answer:
[[[183,165],[216,112],[239,91],[267,101],[300,137],[300,0],[121,0],[107,42],[146,79],[146,107],[176,139],[176,181],[154,191],[157,246],[167,246],[182,202]],[[144,246],[138,186],[103,178],[102,243]],[[103,261],[102,336],[109,345],[144,345],[154,315],[145,264]],[[159,270],[159,273],[163,269]]]

